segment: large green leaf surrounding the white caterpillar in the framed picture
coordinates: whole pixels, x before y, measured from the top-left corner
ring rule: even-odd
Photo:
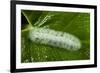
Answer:
[[[27,26],[21,31],[21,62],[46,62],[90,59],[90,14],[22,10]],[[23,24],[24,25],[24,24]],[[24,27],[24,26],[22,26]],[[29,39],[31,27],[45,27],[75,35],[82,47],[77,51],[36,44]]]

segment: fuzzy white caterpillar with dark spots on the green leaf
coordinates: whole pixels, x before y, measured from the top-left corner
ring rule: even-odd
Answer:
[[[34,27],[29,32],[29,38],[36,43],[68,50],[78,50],[81,48],[80,40],[74,35],[46,28]]]

